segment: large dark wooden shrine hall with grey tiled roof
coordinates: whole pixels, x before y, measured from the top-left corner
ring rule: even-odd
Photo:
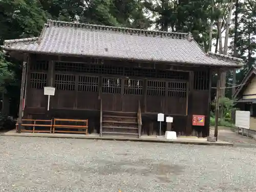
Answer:
[[[212,74],[242,65],[205,53],[190,33],[54,20],[39,37],[2,47],[23,60],[19,123],[88,119],[89,133],[103,136],[159,135],[158,113],[174,118],[178,135],[208,136]],[[49,111],[47,86],[56,88]],[[193,125],[193,115],[204,115],[204,126]]]

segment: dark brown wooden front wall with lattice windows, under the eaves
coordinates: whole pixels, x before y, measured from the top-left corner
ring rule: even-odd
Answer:
[[[179,135],[207,136],[209,77],[209,68],[30,55],[24,114],[89,119],[92,133],[99,128],[99,99],[103,111],[123,112],[137,112],[140,101],[144,134],[158,134],[157,113],[164,113],[174,117]],[[50,111],[45,86],[56,87]],[[193,114],[206,115],[206,125],[192,126]]]

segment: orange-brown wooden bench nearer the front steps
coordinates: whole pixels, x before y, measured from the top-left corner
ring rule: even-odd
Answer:
[[[81,123],[82,125],[77,125],[77,123]],[[70,124],[73,123],[73,124]],[[62,129],[81,129],[84,131],[65,131],[65,130],[56,130],[56,128]],[[81,120],[81,119],[57,119],[54,118],[53,123],[53,133],[88,133],[88,119]]]

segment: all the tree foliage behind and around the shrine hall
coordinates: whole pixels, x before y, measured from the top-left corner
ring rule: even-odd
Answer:
[[[236,1],[239,0],[233,0],[233,3]],[[229,5],[230,1],[226,0],[1,0],[0,44],[5,39],[38,36],[47,18],[51,18],[67,22],[191,32],[205,51],[210,50],[211,44],[210,48],[214,49],[215,46],[215,51],[222,53],[219,38],[222,39],[222,35],[218,35],[218,31],[225,34],[229,26],[227,35],[231,43],[227,54],[234,55],[233,36],[237,30],[236,56],[246,62],[244,68],[237,71],[236,83],[240,83],[256,62],[256,0],[239,1],[239,25],[236,29],[234,16],[227,25]],[[18,82],[20,78],[19,65],[7,60],[0,56],[1,90],[6,90],[4,87],[10,87],[10,82]],[[232,73],[227,74],[226,80],[226,86],[230,87]],[[212,82],[215,87],[216,79]],[[227,93],[227,97],[230,97],[231,93]]]

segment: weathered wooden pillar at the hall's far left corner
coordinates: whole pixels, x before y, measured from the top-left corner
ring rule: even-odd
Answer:
[[[18,133],[21,133],[22,131],[22,113],[23,113],[23,99],[25,95],[24,91],[25,91],[27,61],[28,61],[28,54],[24,54],[23,63],[22,63],[22,82],[20,85],[19,110],[18,110]]]

